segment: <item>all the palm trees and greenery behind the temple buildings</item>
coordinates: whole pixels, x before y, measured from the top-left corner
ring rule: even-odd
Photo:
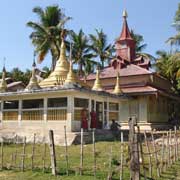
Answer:
[[[27,26],[33,29],[30,39],[37,53],[37,62],[41,63],[46,55],[50,52],[52,57],[51,70],[54,68],[56,60],[59,58],[62,29],[71,17],[66,16],[61,8],[57,5],[48,6],[45,9],[41,7],[33,8],[33,12],[38,16],[38,22],[28,22]],[[180,93],[180,4],[176,11],[173,27],[177,30],[177,34],[170,37],[167,43],[170,44],[169,51],[157,51],[157,60],[155,61],[155,70],[160,75],[171,81],[173,89],[176,93]],[[66,29],[67,38],[66,46],[70,51],[72,44],[72,59],[77,64],[79,75],[87,75],[94,72],[97,65],[102,68],[109,64],[109,60],[114,56],[114,46],[108,43],[108,37],[103,30],[95,29],[95,34],[86,35],[82,29],[79,32]],[[142,35],[131,31],[132,37],[136,41],[136,53],[148,56],[151,60],[155,60],[153,56],[144,53],[147,44],[143,43]],[[44,68],[43,77],[47,77],[50,68]],[[47,73],[46,73],[47,72]],[[14,68],[8,72],[8,76],[13,77],[15,81],[22,81],[27,84],[31,71],[27,69],[25,72],[19,68]]]

